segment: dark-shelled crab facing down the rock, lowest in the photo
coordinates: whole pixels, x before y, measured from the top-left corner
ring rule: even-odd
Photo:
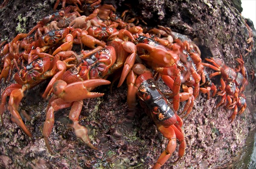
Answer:
[[[129,119],[134,117],[136,106],[136,95],[140,99],[140,104],[145,108],[145,112],[153,119],[157,129],[169,140],[166,149],[152,169],[159,169],[172,155],[176,148],[176,139],[180,142],[178,158],[183,157],[186,141],[184,132],[181,129],[182,120],[173,110],[168,99],[160,91],[154,81],[151,72],[144,65],[135,64],[127,77],[128,93],[127,102],[129,107]]]

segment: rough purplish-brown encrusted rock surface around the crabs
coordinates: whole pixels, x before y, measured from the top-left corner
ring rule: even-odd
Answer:
[[[108,0],[110,1],[110,0]],[[138,0],[131,4],[128,0],[111,1],[121,14],[125,9],[148,23],[147,27],[168,26],[172,31],[186,34],[198,43],[202,59],[211,56],[209,46],[218,46],[224,62],[236,67],[235,58],[245,53],[248,38],[244,20],[239,9],[228,0]],[[18,33],[28,32],[42,17],[53,13],[54,0],[15,0],[0,9],[0,39],[11,41]],[[236,7],[236,8],[235,8]],[[61,6],[58,6],[61,8]],[[145,25],[144,25],[145,26]],[[254,38],[254,42],[255,42]],[[255,47],[244,58],[247,71],[256,70]],[[248,107],[255,107],[256,78],[250,82],[247,93]],[[216,78],[218,81],[218,78]],[[12,81],[13,82],[13,81]],[[159,82],[162,87],[164,85]],[[151,119],[137,107],[134,126],[119,140],[113,138],[113,131],[122,125],[128,107],[127,88],[99,87],[104,92],[101,98],[84,100],[80,124],[91,129],[91,143],[98,150],[90,149],[76,138],[73,130],[61,123],[70,109],[55,113],[55,126],[49,138],[55,155],[49,154],[44,144],[42,129],[48,101],[41,99],[47,82],[30,90],[20,104],[31,120],[26,126],[32,132],[29,138],[20,127],[12,123],[10,113],[5,111],[5,128],[0,128],[0,168],[151,168],[167,145],[166,138],[157,131]],[[1,93],[6,88],[1,83]],[[192,113],[184,119],[184,132],[187,143],[186,154],[175,165],[177,151],[162,167],[170,168],[238,168],[247,167],[241,161],[245,139],[250,130],[255,129],[255,110],[245,112],[230,122],[227,118],[232,110],[223,107],[213,109],[218,97],[206,99],[201,94],[195,101]],[[255,130],[254,130],[255,131]]]

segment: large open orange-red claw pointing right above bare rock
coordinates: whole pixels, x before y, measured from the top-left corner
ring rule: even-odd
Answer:
[[[66,102],[79,101],[103,96],[104,93],[90,92],[100,85],[109,85],[111,82],[105,79],[89,79],[81,82],[73,82],[67,85],[63,80],[58,80],[53,85],[52,93]]]

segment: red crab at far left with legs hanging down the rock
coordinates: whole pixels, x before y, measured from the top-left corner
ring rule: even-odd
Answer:
[[[56,72],[58,72],[58,70],[62,70],[63,67],[65,67],[64,62],[60,61],[57,63],[57,60],[58,57],[55,57],[55,59],[52,61],[49,57],[44,57],[43,59],[35,60],[29,65],[24,66],[17,73],[15,73],[14,79],[17,84],[10,85],[2,93],[0,104],[2,124],[2,115],[5,110],[6,97],[10,96],[8,109],[13,116],[12,121],[18,124],[29,137],[32,136],[20,117],[18,107],[21,99],[24,96],[24,91],[35,87],[44,79],[53,76]]]

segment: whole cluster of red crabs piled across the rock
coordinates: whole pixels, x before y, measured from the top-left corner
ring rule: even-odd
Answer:
[[[55,9],[58,3],[59,0]],[[192,111],[200,92],[207,94],[207,99],[220,96],[221,101],[215,108],[224,106],[232,109],[231,122],[237,114],[244,112],[247,106],[244,89],[248,82],[242,55],[236,59],[237,67],[233,69],[225,65],[218,57],[217,48],[212,47],[214,57],[206,58],[207,63],[202,62],[197,45],[170,28],[136,26],[136,18],[125,17],[127,11],[118,17],[116,9],[112,5],[101,4],[101,0],[70,3],[73,4],[65,7],[63,0],[61,10],[44,17],[28,34],[18,34],[11,42],[0,44],[0,82],[9,83],[13,74],[16,81],[1,93],[2,126],[3,113],[8,109],[12,121],[32,137],[18,112],[19,104],[26,90],[50,79],[42,95],[49,99],[43,129],[49,152],[53,153],[48,138],[54,124],[54,112],[67,107],[71,107],[70,127],[76,136],[96,149],[90,143],[87,128],[78,121],[82,101],[103,96],[103,93],[92,90],[111,84],[108,76],[115,73],[119,75],[116,77],[119,78],[118,87],[125,80],[128,86],[129,109],[124,125],[133,122],[138,99],[157,129],[169,140],[153,167],[156,169],[175,151],[176,140],[179,141],[179,150],[175,162],[183,157],[186,141],[182,119]],[[82,6],[87,6],[87,9]],[[249,53],[253,34],[247,29]],[[213,73],[208,73],[209,70]],[[214,76],[220,76],[220,84],[213,84],[211,78]],[[156,82],[160,78],[171,92],[161,91]],[[178,115],[183,101],[186,102]],[[121,136],[122,132],[124,130],[116,129],[114,134]]]

